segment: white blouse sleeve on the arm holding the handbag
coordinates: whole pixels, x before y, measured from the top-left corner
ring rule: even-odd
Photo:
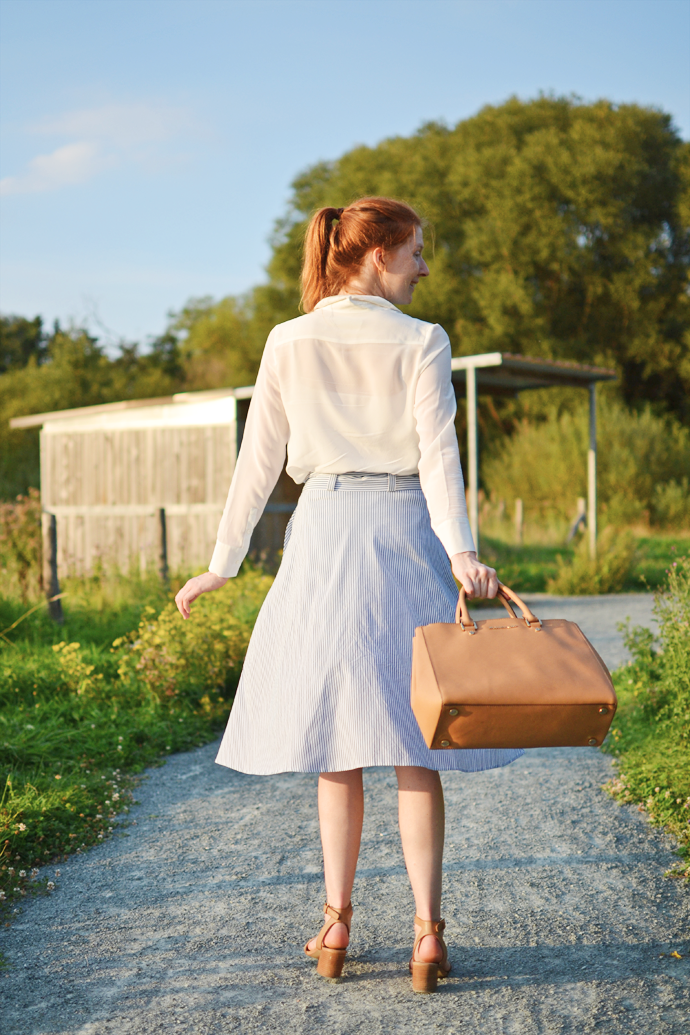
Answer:
[[[455,434],[456,410],[450,342],[443,328],[434,325],[417,381],[414,412],[421,453],[419,477],[431,528],[449,557],[475,549]]]

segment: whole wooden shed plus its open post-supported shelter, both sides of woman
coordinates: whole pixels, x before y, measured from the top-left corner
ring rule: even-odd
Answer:
[[[477,394],[588,389],[587,525],[594,556],[595,389],[600,381],[616,380],[616,373],[505,352],[455,357],[451,366],[456,394],[467,395],[468,502],[478,545]],[[57,553],[60,574],[87,573],[101,564],[121,570],[132,562],[141,568],[156,564],[161,573],[168,567],[187,572],[208,564],[252,392],[253,386],[218,388],[14,417],[12,427],[42,427],[44,557]],[[300,492],[283,469],[252,535],[250,556],[275,564]]]

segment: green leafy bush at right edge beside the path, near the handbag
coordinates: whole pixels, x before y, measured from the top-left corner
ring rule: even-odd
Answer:
[[[619,775],[607,789],[676,835],[685,861],[669,876],[690,880],[690,557],[672,563],[654,610],[658,644],[650,629],[625,627],[632,659],[613,674],[619,710],[605,749]]]

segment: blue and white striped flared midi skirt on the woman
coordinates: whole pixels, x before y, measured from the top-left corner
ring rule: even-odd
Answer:
[[[267,775],[360,766],[476,772],[519,758],[519,749],[432,751],[417,726],[414,630],[452,622],[456,601],[417,476],[312,476],[216,762]]]

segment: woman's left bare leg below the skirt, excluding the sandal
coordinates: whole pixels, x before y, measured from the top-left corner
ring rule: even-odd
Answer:
[[[324,850],[326,898],[334,909],[342,909],[350,903],[363,819],[362,770],[322,773],[319,777],[319,823]],[[311,939],[309,948],[313,948],[316,941],[316,938]],[[324,939],[324,945],[329,949],[344,949],[348,941],[346,925],[334,923]]]

